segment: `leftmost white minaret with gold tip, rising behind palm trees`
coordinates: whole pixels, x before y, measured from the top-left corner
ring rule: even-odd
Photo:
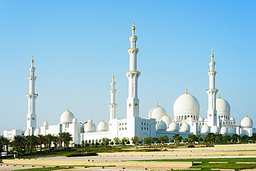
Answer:
[[[28,114],[27,114],[27,130],[30,130],[30,134],[34,134],[34,130],[37,128],[37,114],[35,114],[35,99],[37,99],[38,94],[35,94],[35,67],[34,67],[34,59],[32,57],[30,76],[28,76],[29,80],[29,93],[26,94],[28,97]]]

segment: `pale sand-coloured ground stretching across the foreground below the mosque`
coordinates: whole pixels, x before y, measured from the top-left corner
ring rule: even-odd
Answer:
[[[161,152],[115,152],[99,153],[98,157],[49,157],[39,159],[4,159],[9,165],[116,165],[117,168],[147,168],[154,170],[170,170],[171,168],[189,168],[192,162],[138,162],[127,160],[142,159],[201,159],[201,158],[229,158],[255,157],[256,145],[232,144],[214,145],[201,148],[170,148]],[[1,169],[1,168],[0,168]],[[77,168],[78,169],[78,168]],[[113,170],[113,169],[112,169]]]

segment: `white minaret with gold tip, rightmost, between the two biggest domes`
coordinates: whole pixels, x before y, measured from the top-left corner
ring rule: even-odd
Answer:
[[[207,111],[208,125],[212,127],[217,124],[216,94],[218,92],[218,89],[215,88],[215,75],[217,72],[214,70],[215,62],[213,61],[213,57],[214,57],[213,50],[210,57],[211,57],[211,61],[209,62],[210,71],[208,72],[209,89],[206,90],[206,93],[208,94],[208,111]]]

